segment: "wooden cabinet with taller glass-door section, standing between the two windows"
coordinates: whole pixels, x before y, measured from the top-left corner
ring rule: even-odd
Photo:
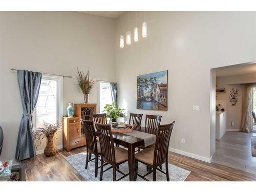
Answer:
[[[92,120],[92,114],[97,113],[96,103],[74,104],[74,107],[74,117],[63,117],[63,148],[67,152],[86,145],[80,119]]]

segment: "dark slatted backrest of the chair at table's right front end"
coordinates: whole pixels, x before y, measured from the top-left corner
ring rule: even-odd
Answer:
[[[168,157],[170,135],[172,134],[175,121],[170,124],[159,125],[154,152],[154,164],[163,163]]]

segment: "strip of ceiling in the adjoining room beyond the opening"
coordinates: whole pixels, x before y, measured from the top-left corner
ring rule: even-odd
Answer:
[[[216,76],[230,76],[256,73],[256,62],[216,68]]]

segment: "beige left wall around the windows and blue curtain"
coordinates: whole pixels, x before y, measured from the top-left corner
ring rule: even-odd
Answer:
[[[115,20],[79,12],[0,12],[0,160],[15,156],[22,104],[11,68],[70,75],[63,78],[63,115],[68,102],[83,102],[77,67],[91,77],[115,80]],[[97,83],[90,102],[97,103]],[[44,143],[44,142],[43,142]],[[62,144],[58,133],[57,145]],[[44,147],[41,146],[43,149]]]

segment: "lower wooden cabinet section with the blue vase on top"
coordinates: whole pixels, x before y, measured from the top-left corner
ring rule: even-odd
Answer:
[[[81,134],[79,117],[63,117],[63,148],[67,152],[72,148],[86,145],[86,137]]]

